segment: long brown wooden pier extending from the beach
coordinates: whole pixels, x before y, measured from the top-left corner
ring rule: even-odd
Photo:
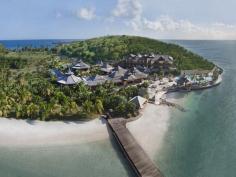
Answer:
[[[126,120],[118,118],[108,119],[107,121],[114,137],[137,176],[163,177],[160,170],[154,165],[130,131],[126,128]]]

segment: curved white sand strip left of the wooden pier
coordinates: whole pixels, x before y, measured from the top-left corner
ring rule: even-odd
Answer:
[[[58,145],[107,139],[101,119],[89,122],[43,122],[0,118],[0,146]]]

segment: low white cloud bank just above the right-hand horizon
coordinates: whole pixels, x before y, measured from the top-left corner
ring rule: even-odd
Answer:
[[[224,23],[195,24],[189,20],[176,20],[160,16],[151,21],[142,18],[138,30],[149,30],[172,38],[181,39],[232,39],[236,38],[236,26]],[[137,28],[134,28],[137,29]]]

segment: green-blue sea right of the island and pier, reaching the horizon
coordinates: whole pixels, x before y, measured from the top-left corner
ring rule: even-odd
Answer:
[[[176,41],[175,41],[176,42]],[[216,88],[183,96],[156,161],[166,177],[236,176],[236,41],[177,41],[224,69]]]

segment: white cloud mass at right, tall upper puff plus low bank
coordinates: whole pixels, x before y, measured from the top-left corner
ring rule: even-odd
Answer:
[[[236,25],[224,23],[197,24],[188,19],[161,15],[156,20],[143,15],[140,0],[117,0],[112,22],[119,19],[137,35],[173,39],[236,39]]]

